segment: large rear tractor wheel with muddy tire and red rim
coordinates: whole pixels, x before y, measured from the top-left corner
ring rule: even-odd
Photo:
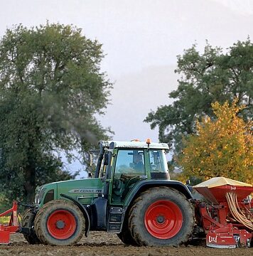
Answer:
[[[141,246],[181,245],[190,238],[193,225],[190,202],[173,188],[149,188],[134,201],[130,210],[131,237]]]

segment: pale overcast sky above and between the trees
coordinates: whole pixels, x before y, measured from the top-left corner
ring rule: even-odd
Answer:
[[[1,0],[0,36],[13,24],[74,24],[103,44],[102,69],[114,82],[104,127],[114,139],[158,140],[143,122],[171,103],[177,87],[176,55],[205,40],[227,48],[253,38],[253,0]],[[189,99],[190,100],[190,99]]]

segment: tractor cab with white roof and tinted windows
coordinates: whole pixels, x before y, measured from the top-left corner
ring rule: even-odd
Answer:
[[[167,144],[100,142],[95,178],[104,178],[104,196],[112,204],[124,204],[139,181],[168,180]]]

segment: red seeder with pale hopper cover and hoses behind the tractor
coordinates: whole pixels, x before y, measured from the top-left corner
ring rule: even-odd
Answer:
[[[253,236],[253,186],[212,178],[194,187],[205,198],[196,201],[195,218],[209,247],[250,247]]]

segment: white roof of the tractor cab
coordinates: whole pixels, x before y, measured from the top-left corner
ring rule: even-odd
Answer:
[[[147,149],[148,144],[146,142],[119,142],[119,141],[102,141],[102,146],[109,147],[109,144],[114,143],[114,148],[136,148],[136,149]],[[149,144],[149,149],[169,149],[166,143],[155,143]]]

